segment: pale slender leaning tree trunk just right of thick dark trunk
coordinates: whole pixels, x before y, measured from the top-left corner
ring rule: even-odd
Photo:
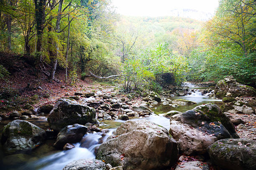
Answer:
[[[59,39],[59,31],[60,31],[60,20],[61,20],[62,3],[63,3],[63,0],[60,0],[59,1],[58,16],[57,16],[57,21],[56,21],[56,32],[58,34],[58,39]],[[58,43],[56,43],[55,47],[56,47],[56,59],[54,61],[54,65],[53,65],[53,67],[51,69],[50,80],[54,79],[54,75],[55,75],[55,71],[56,71],[56,67],[57,67],[57,63],[58,63],[58,55],[59,55]]]

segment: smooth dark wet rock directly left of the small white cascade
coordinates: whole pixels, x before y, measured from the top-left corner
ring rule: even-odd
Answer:
[[[62,149],[66,143],[79,142],[87,132],[87,127],[79,124],[69,125],[58,133],[54,147]]]

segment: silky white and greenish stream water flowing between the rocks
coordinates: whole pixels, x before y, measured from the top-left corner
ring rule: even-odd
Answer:
[[[195,85],[186,84],[189,88],[201,89],[195,87]],[[150,117],[134,118],[131,120],[147,119],[155,122],[164,128],[169,130],[169,119],[163,117],[163,113],[169,112],[171,110],[177,110],[180,112],[185,112],[187,110],[193,109],[197,105],[202,105],[206,103],[215,103],[221,105],[221,100],[213,100],[209,97],[203,96],[198,90],[194,90],[191,95],[182,97],[172,97],[171,100],[175,99],[185,99],[190,101],[195,101],[195,105],[184,105],[179,107],[171,107],[169,105],[157,105],[152,107],[151,110],[154,114]],[[10,121],[10,120],[9,120]],[[46,119],[42,120],[31,120],[31,123],[38,125],[39,127],[46,130],[48,128],[48,123]],[[118,128],[123,122],[123,120],[105,120],[100,123],[100,128],[107,129],[107,133],[92,133],[84,135],[80,143],[73,144],[75,148],[72,150],[59,151],[53,147],[54,140],[47,140],[46,143],[40,145],[31,153],[21,153],[15,155],[4,156],[0,153],[2,158],[2,163],[0,164],[1,170],[62,170],[65,165],[72,162],[73,160],[78,160],[82,158],[95,158],[95,148],[104,142],[108,136],[112,135],[113,131]],[[1,122],[0,130],[2,131],[3,125],[8,122]]]

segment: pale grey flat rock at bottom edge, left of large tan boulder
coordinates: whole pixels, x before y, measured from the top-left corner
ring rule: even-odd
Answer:
[[[80,159],[67,164],[62,170],[106,170],[105,166],[101,160]]]

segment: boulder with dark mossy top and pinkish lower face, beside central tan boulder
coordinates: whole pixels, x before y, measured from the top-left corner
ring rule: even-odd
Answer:
[[[220,139],[239,138],[230,119],[211,103],[173,115],[170,134],[187,155],[204,154],[209,145]]]

